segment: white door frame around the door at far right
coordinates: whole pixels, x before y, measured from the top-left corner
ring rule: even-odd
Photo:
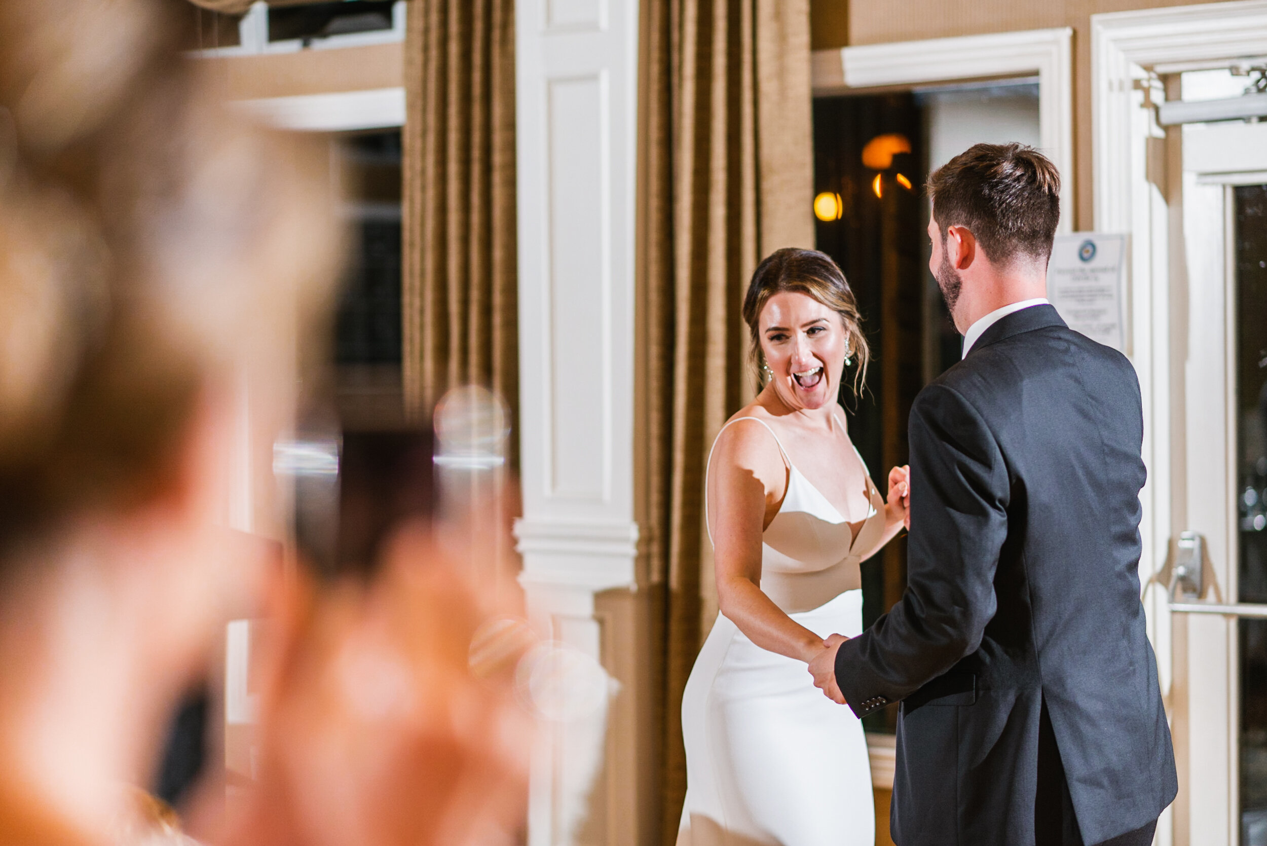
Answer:
[[[1101,232],[1130,236],[1124,282],[1125,351],[1139,375],[1144,405],[1144,461],[1149,470],[1140,493],[1144,584],[1164,570],[1172,538],[1195,517],[1188,510],[1185,380],[1191,363],[1186,262],[1192,257],[1185,255],[1182,237],[1183,180],[1177,179],[1178,174],[1176,179],[1166,177],[1167,167],[1182,170],[1182,148],[1173,136],[1166,141],[1166,133],[1144,108],[1145,89],[1153,90],[1148,71],[1196,70],[1262,56],[1267,53],[1264,44],[1267,0],[1091,16],[1095,225]],[[1221,251],[1223,244],[1216,249]],[[1228,575],[1224,569],[1219,579],[1225,586],[1230,584]],[[1230,575],[1234,579],[1234,572]],[[1202,775],[1194,783],[1191,756],[1202,750],[1195,743],[1190,748],[1188,741],[1196,740],[1190,738],[1190,731],[1196,723],[1195,714],[1188,713],[1188,694],[1201,689],[1202,666],[1223,666],[1228,678],[1235,679],[1235,624],[1215,619],[1176,619],[1172,624],[1169,598],[1156,580],[1153,585],[1145,590],[1144,607],[1180,762],[1180,797],[1163,816],[1157,842],[1234,842],[1239,836],[1234,746],[1229,737],[1230,760],[1221,770],[1211,766],[1216,771],[1209,779]],[[1215,648],[1230,656],[1232,664],[1188,660],[1194,638],[1211,646],[1221,642]],[[1211,716],[1221,713],[1223,728],[1230,736],[1235,691],[1234,685],[1224,686],[1226,702],[1213,704]]]

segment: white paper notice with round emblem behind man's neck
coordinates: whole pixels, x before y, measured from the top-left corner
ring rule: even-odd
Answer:
[[[1057,236],[1047,267],[1047,298],[1069,328],[1119,351],[1125,242],[1098,232]]]

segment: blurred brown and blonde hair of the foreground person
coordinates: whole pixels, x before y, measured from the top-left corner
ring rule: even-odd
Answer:
[[[231,114],[182,5],[0,4],[0,571],[163,490],[204,388],[328,301],[328,153]]]

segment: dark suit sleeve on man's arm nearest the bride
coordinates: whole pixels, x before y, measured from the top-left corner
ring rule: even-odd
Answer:
[[[920,393],[908,431],[906,593],[836,653],[836,684],[859,717],[973,653],[995,616],[1010,495],[998,445],[977,409],[944,385]]]

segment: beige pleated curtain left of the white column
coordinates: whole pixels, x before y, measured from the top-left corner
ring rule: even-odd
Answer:
[[[402,305],[416,414],[475,382],[518,419],[513,13],[514,0],[409,3]]]

